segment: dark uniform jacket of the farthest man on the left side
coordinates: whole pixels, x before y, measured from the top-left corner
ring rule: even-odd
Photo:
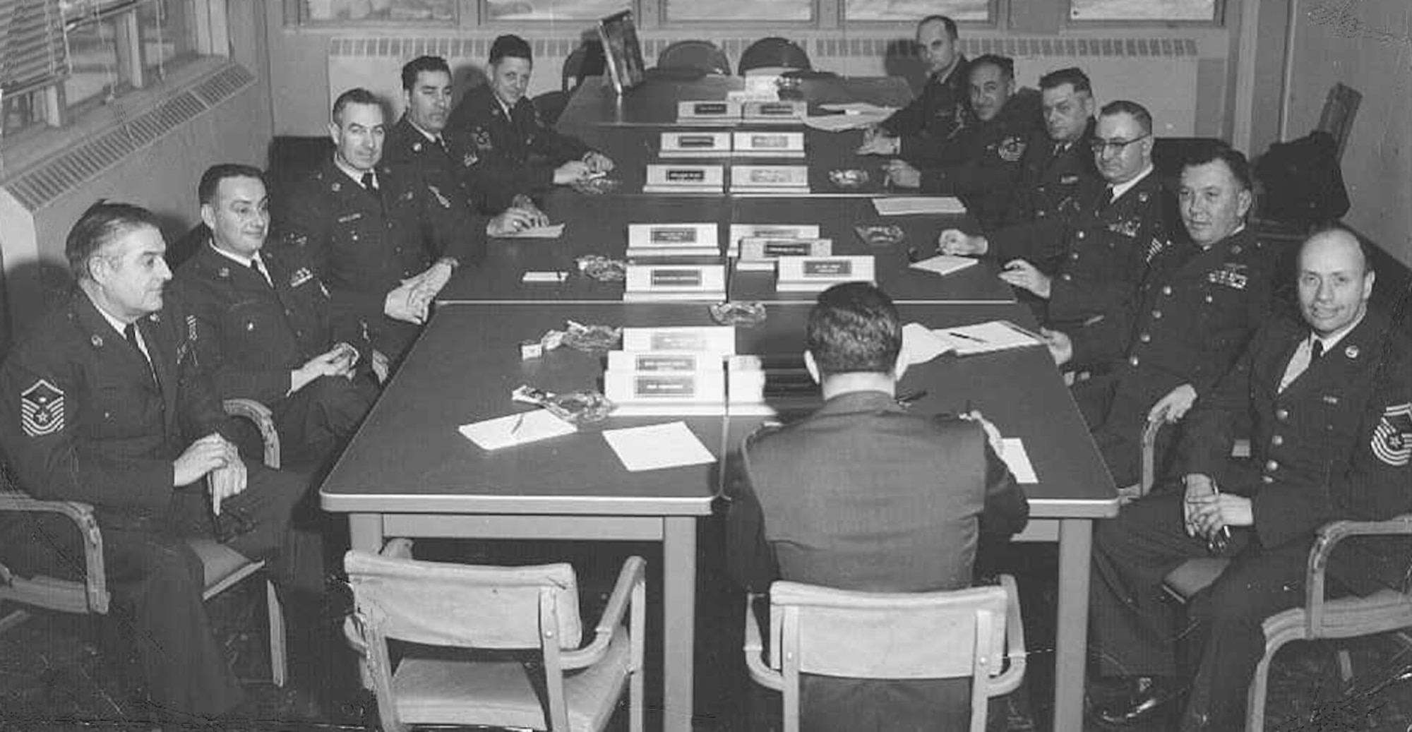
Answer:
[[[552,187],[555,168],[590,151],[580,140],[544,124],[527,98],[505,116],[490,85],[467,92],[446,129],[452,154],[462,163],[462,185],[484,192],[487,211],[504,211],[515,195]]]

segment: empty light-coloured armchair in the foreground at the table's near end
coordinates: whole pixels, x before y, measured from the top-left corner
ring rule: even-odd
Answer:
[[[343,558],[356,602],[356,647],[383,729],[600,731],[627,685],[630,728],[641,732],[645,562],[640,557],[623,562],[593,640],[580,649],[570,565],[474,567],[395,554],[349,551]],[[459,651],[409,650],[394,667],[390,640]],[[535,670],[518,654],[508,657],[514,650],[538,651]]]

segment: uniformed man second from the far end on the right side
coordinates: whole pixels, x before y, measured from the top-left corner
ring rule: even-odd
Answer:
[[[894,160],[888,179],[899,188],[921,188],[923,194],[956,195],[980,219],[981,229],[1000,226],[1019,178],[1019,160],[1029,137],[1039,129],[1039,95],[1034,89],[1015,93],[1015,62],[986,54],[967,66],[970,105],[977,126],[962,130],[957,144],[947,148],[942,165],[918,170]]]

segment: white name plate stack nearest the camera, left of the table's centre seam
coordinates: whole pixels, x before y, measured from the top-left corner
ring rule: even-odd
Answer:
[[[624,328],[609,353],[603,396],[614,415],[726,414],[723,362],[736,353],[729,325]]]

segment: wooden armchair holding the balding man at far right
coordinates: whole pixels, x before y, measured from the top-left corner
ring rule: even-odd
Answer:
[[[1161,427],[1161,423],[1149,424],[1142,432],[1144,495],[1155,480],[1152,445]],[[1243,449],[1245,455],[1250,455],[1248,444],[1244,447],[1237,444],[1233,455],[1241,456]],[[1324,596],[1329,557],[1340,541],[1354,536],[1412,536],[1412,513],[1387,521],[1330,521],[1319,529],[1315,545],[1309,550],[1309,564],[1305,571],[1305,603],[1275,613],[1262,623],[1265,656],[1260,660],[1255,675],[1250,680],[1250,691],[1245,697],[1245,732],[1265,729],[1269,661],[1291,640],[1357,637],[1412,627],[1412,588],[1388,588],[1365,596],[1336,599]],[[1175,599],[1186,602],[1214,582],[1228,564],[1230,560],[1220,557],[1187,560],[1186,564],[1163,578],[1163,586]],[[1344,681],[1351,680],[1353,667],[1344,650],[1339,651],[1339,667]]]

